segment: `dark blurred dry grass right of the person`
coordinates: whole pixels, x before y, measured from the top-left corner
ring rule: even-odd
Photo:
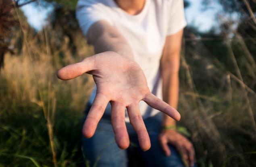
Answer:
[[[227,16],[220,19],[223,17]],[[220,23],[232,27],[229,22]],[[256,53],[248,49],[236,29],[222,33],[221,38],[206,40],[187,33],[189,40],[184,40],[181,57],[179,111],[182,123],[192,133],[200,165],[255,166]],[[249,41],[256,42],[253,38]],[[219,45],[219,54],[227,62],[221,62],[214,52]]]

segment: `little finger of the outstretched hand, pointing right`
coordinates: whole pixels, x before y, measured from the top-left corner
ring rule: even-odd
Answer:
[[[173,107],[171,107],[171,105],[165,103],[164,101],[162,101],[161,99],[153,95],[152,93],[148,93],[144,97],[143,101],[145,101],[148,105],[150,105],[154,109],[158,109],[159,111],[166,113],[171,118],[177,121],[181,119],[181,115],[176,109],[174,109]]]

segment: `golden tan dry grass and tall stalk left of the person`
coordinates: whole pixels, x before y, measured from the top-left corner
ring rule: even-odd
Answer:
[[[85,75],[64,82],[56,78],[56,71],[65,64],[75,63],[92,55],[92,47],[87,46],[81,31],[75,32],[76,38],[71,43],[71,38],[61,32],[61,25],[54,29],[48,25],[43,31],[36,33],[19,18],[20,11],[16,10],[20,29],[10,41],[10,46],[15,48],[15,55],[5,54],[4,68],[0,71],[0,117],[4,119],[13,114],[31,114],[33,109],[39,112],[32,113],[33,115],[43,113],[48,132],[46,142],[50,145],[52,162],[54,166],[59,166],[54,138],[54,123],[59,121],[55,116],[56,109],[58,114],[63,109],[71,109],[73,114],[81,116],[92,91],[93,81]],[[77,52],[73,52],[71,44],[75,45]],[[33,106],[33,109],[27,110],[29,106]],[[19,110],[24,110],[24,113]],[[11,129],[8,123],[3,127],[2,130],[7,130],[7,133]]]

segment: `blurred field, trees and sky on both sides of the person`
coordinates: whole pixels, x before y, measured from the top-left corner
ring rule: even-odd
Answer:
[[[0,0],[0,167],[82,165],[81,119],[94,82],[56,78],[94,54],[76,3]],[[185,14],[179,129],[199,167],[255,167],[256,0],[185,0]]]

